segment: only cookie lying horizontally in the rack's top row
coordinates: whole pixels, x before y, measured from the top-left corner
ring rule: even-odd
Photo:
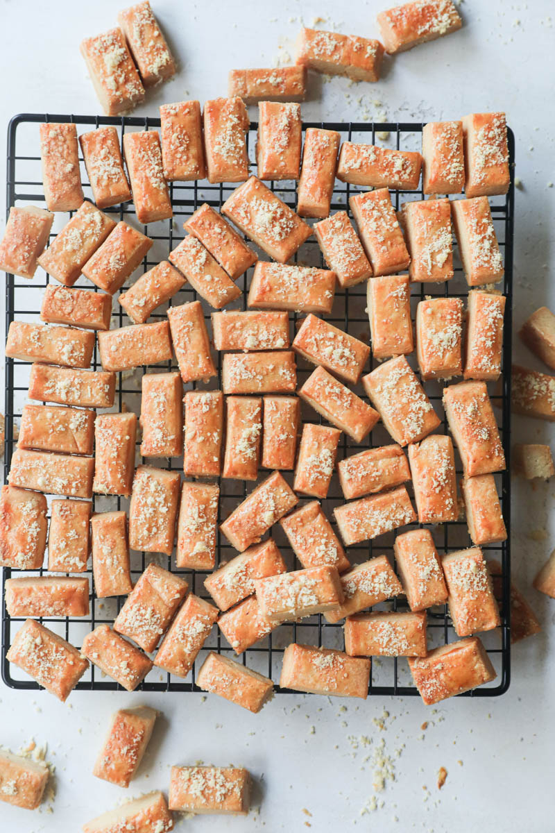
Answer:
[[[419,187],[422,157],[414,151],[343,142],[337,178],[352,185],[415,191]]]

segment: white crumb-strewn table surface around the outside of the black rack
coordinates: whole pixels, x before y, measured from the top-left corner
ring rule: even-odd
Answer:
[[[99,112],[78,44],[116,24],[120,4],[70,0],[0,2],[0,157],[5,128],[17,112]],[[124,5],[122,3],[121,5]],[[376,36],[380,0],[358,3],[206,0],[153,6],[181,72],[148,95],[137,115],[157,115],[162,102],[225,94],[231,67],[268,66],[292,46],[301,20],[327,18],[323,28]],[[533,309],[555,307],[553,257],[553,3],[466,0],[461,32],[388,61],[375,85],[310,79],[307,120],[439,120],[467,112],[505,110],[517,136],[515,304],[518,327]],[[362,100],[359,100],[362,97]],[[0,164],[0,193],[4,192]],[[2,317],[3,320],[3,317]],[[540,367],[515,342],[519,360]],[[515,418],[515,440],[551,441],[548,424]],[[6,833],[70,833],[100,812],[152,789],[167,790],[169,767],[198,760],[248,767],[255,805],[248,819],[197,817],[178,830],[302,831],[553,831],[553,689],[555,602],[531,581],[551,551],[555,532],[553,483],[535,488],[513,481],[513,575],[543,623],[540,636],[513,651],[513,682],[496,699],[457,699],[427,709],[417,698],[366,702],[279,696],[260,715],[216,697],[128,695],[77,691],[63,706],[45,692],[16,692],[0,684],[0,744],[14,751],[31,738],[47,743],[57,767],[52,811],[30,813],[2,804]],[[537,541],[538,530],[547,532]],[[531,533],[533,537],[531,537]],[[91,775],[108,716],[146,703],[163,712],[141,766],[122,791]],[[344,703],[344,708],[342,707]],[[389,716],[381,729],[384,710]],[[426,731],[421,724],[429,722]],[[369,739],[365,745],[364,736]],[[384,741],[394,781],[374,793],[374,764]],[[358,748],[356,748],[358,746]],[[448,771],[439,792],[439,767]],[[426,789],[427,788],[427,789]],[[361,814],[372,796],[383,806]],[[304,810],[309,811],[309,816]],[[305,827],[306,825],[306,827]]]

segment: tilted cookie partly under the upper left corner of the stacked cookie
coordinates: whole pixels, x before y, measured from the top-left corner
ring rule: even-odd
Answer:
[[[206,576],[204,586],[220,610],[227,611],[255,592],[255,579],[276,576],[286,570],[275,541],[268,538],[222,564]]]

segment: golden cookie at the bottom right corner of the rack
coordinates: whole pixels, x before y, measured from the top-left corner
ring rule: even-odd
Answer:
[[[477,636],[409,657],[410,673],[426,706],[491,682],[497,676]]]

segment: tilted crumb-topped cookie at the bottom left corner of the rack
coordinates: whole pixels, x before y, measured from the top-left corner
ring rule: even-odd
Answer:
[[[6,658],[62,703],[89,666],[77,648],[34,619],[19,628]]]

